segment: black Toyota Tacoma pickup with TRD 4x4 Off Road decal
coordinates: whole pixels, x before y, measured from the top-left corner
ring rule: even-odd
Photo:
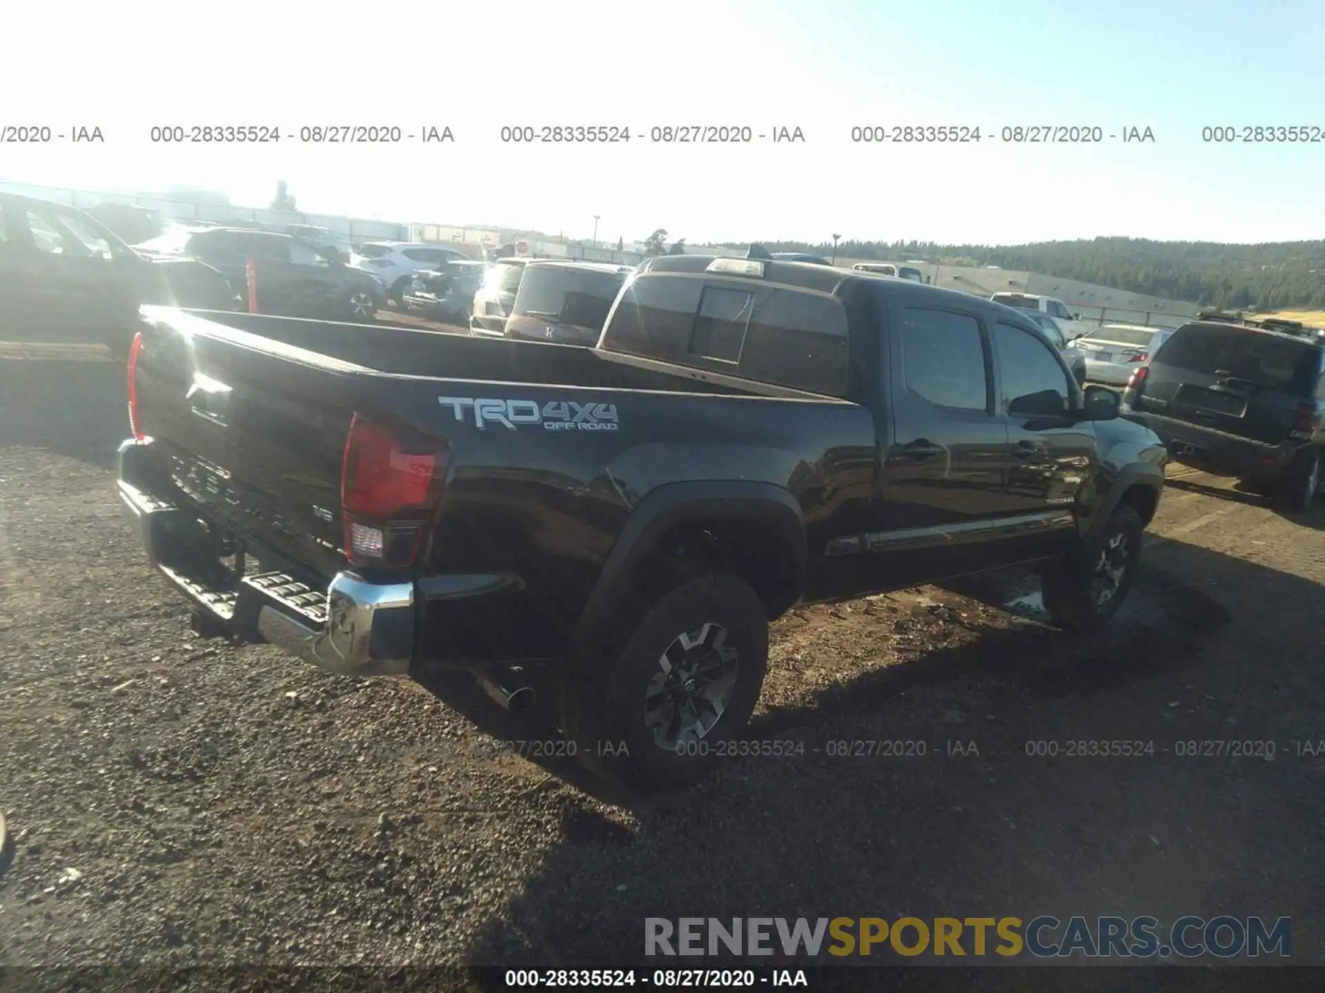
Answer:
[[[121,496],[208,624],[511,707],[554,667],[576,753],[652,788],[741,736],[798,602],[1037,564],[1102,622],[1163,485],[1015,312],[829,266],[651,260],[596,348],[170,308],[135,340]]]

